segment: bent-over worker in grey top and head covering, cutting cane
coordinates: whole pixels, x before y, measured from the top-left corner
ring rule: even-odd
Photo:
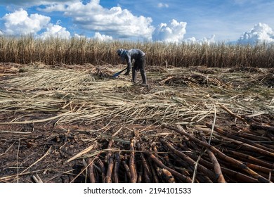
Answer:
[[[141,77],[142,77],[142,86],[147,86],[147,76],[145,73],[145,53],[141,51],[140,49],[118,49],[117,50],[118,56],[121,57],[122,61],[126,60],[127,63],[127,70],[124,75],[129,75],[129,72],[131,71],[131,61],[134,59],[134,65],[132,69],[132,82],[136,84],[137,80],[137,72],[140,70]]]

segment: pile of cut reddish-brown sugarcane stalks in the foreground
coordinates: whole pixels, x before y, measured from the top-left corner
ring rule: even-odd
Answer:
[[[89,158],[86,168],[90,182],[274,181],[271,137],[252,134],[253,127],[235,126],[233,130],[214,125],[211,132],[212,126],[206,123],[205,127],[195,127],[195,132],[186,132],[180,126],[164,125],[180,140],[166,137],[152,143],[136,138],[131,139],[127,151]],[[113,143],[109,141],[107,150]]]

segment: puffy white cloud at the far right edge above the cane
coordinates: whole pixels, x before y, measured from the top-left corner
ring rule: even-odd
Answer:
[[[274,42],[274,32],[268,25],[258,23],[249,32],[244,32],[238,43],[240,44],[256,44],[262,42]]]

